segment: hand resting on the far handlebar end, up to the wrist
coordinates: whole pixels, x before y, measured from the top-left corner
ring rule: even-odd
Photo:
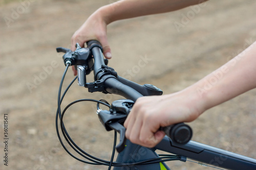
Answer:
[[[100,10],[95,11],[83,25],[74,33],[71,38],[71,50],[75,51],[75,44],[78,42],[81,47],[89,40],[98,40],[103,48],[103,55],[111,59],[111,49],[106,36],[106,26],[108,22],[101,15]],[[77,75],[75,67],[72,66],[74,76]]]

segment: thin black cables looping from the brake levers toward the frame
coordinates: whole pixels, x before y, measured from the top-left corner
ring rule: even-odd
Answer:
[[[57,132],[57,136],[58,139],[63,147],[63,149],[73,158],[75,158],[76,160],[83,162],[83,163],[88,163],[88,164],[92,164],[92,165],[106,165],[109,166],[109,169],[111,169],[112,166],[131,166],[131,165],[140,165],[140,164],[151,164],[151,163],[158,163],[158,162],[164,162],[164,161],[171,161],[171,160],[181,160],[180,156],[177,155],[159,155],[158,158],[153,158],[153,159],[148,159],[148,160],[144,160],[144,161],[140,161],[140,162],[135,162],[135,163],[117,163],[114,162],[114,155],[115,155],[115,147],[116,147],[116,140],[117,140],[117,132],[114,131],[114,144],[113,144],[113,151],[112,151],[112,156],[111,156],[111,160],[110,161],[106,161],[97,157],[94,157],[90,154],[88,154],[87,152],[84,152],[81,148],[78,147],[78,145],[72,140],[72,138],[70,137],[70,135],[68,134],[65,125],[63,123],[63,116],[66,112],[66,110],[74,105],[75,103],[78,102],[84,102],[84,101],[89,101],[89,102],[95,102],[97,103],[97,109],[99,109],[99,104],[105,105],[107,107],[110,107],[110,104],[105,101],[105,100],[94,100],[94,99],[80,99],[80,100],[76,100],[74,102],[71,102],[68,106],[65,107],[65,109],[63,109],[63,111],[61,112],[61,108],[60,105],[62,103],[63,98],[65,97],[67,91],[69,90],[69,88],[71,87],[71,85],[74,83],[74,81],[77,79],[77,76],[73,79],[73,81],[68,85],[68,87],[66,88],[66,90],[63,92],[61,98],[61,89],[62,89],[62,85],[68,70],[70,63],[67,63],[66,65],[66,69],[63,72],[62,78],[61,78],[61,82],[59,85],[59,90],[58,90],[58,108],[56,111],[56,117],[55,117],[55,126],[56,126],[56,132]],[[66,139],[66,141],[68,142],[68,144],[70,145],[70,147],[76,152],[78,153],[80,156],[82,156],[83,158],[89,160],[82,160],[78,157],[76,157],[75,155],[73,155],[65,146],[65,144],[63,143],[60,134],[59,134],[59,128],[58,128],[58,118],[60,119],[60,129],[61,132],[64,136],[64,138]]]

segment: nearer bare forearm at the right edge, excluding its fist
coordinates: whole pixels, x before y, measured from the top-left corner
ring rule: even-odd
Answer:
[[[256,88],[256,42],[187,90],[194,90],[203,110],[207,110],[253,88]]]

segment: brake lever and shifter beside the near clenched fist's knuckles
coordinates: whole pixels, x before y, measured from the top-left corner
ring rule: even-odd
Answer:
[[[132,109],[134,102],[131,100],[114,101],[110,110],[97,110],[100,122],[107,131],[115,130],[120,134],[119,144],[116,145],[118,153],[122,152],[125,147],[125,128],[123,127],[124,120]]]

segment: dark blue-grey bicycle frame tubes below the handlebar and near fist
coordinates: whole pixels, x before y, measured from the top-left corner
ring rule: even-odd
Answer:
[[[181,161],[186,161],[186,158],[190,158],[199,162],[203,162],[208,165],[216,166],[218,168],[227,169],[255,169],[256,160],[245,157],[239,154],[231,153],[218,148],[210,147],[208,145],[198,143],[195,141],[189,141],[187,144],[175,144],[168,137],[156,145],[153,149],[148,149],[141,147],[139,145],[133,144],[130,141],[126,142],[127,147],[121,152],[117,157],[117,162],[131,163],[139,162],[146,159],[157,158],[158,155],[155,150],[161,150],[168,153],[183,156],[184,159]],[[150,167],[150,168],[149,168]],[[164,163],[155,163],[152,165],[135,165],[135,166],[124,166],[115,167],[114,169],[169,169]]]

